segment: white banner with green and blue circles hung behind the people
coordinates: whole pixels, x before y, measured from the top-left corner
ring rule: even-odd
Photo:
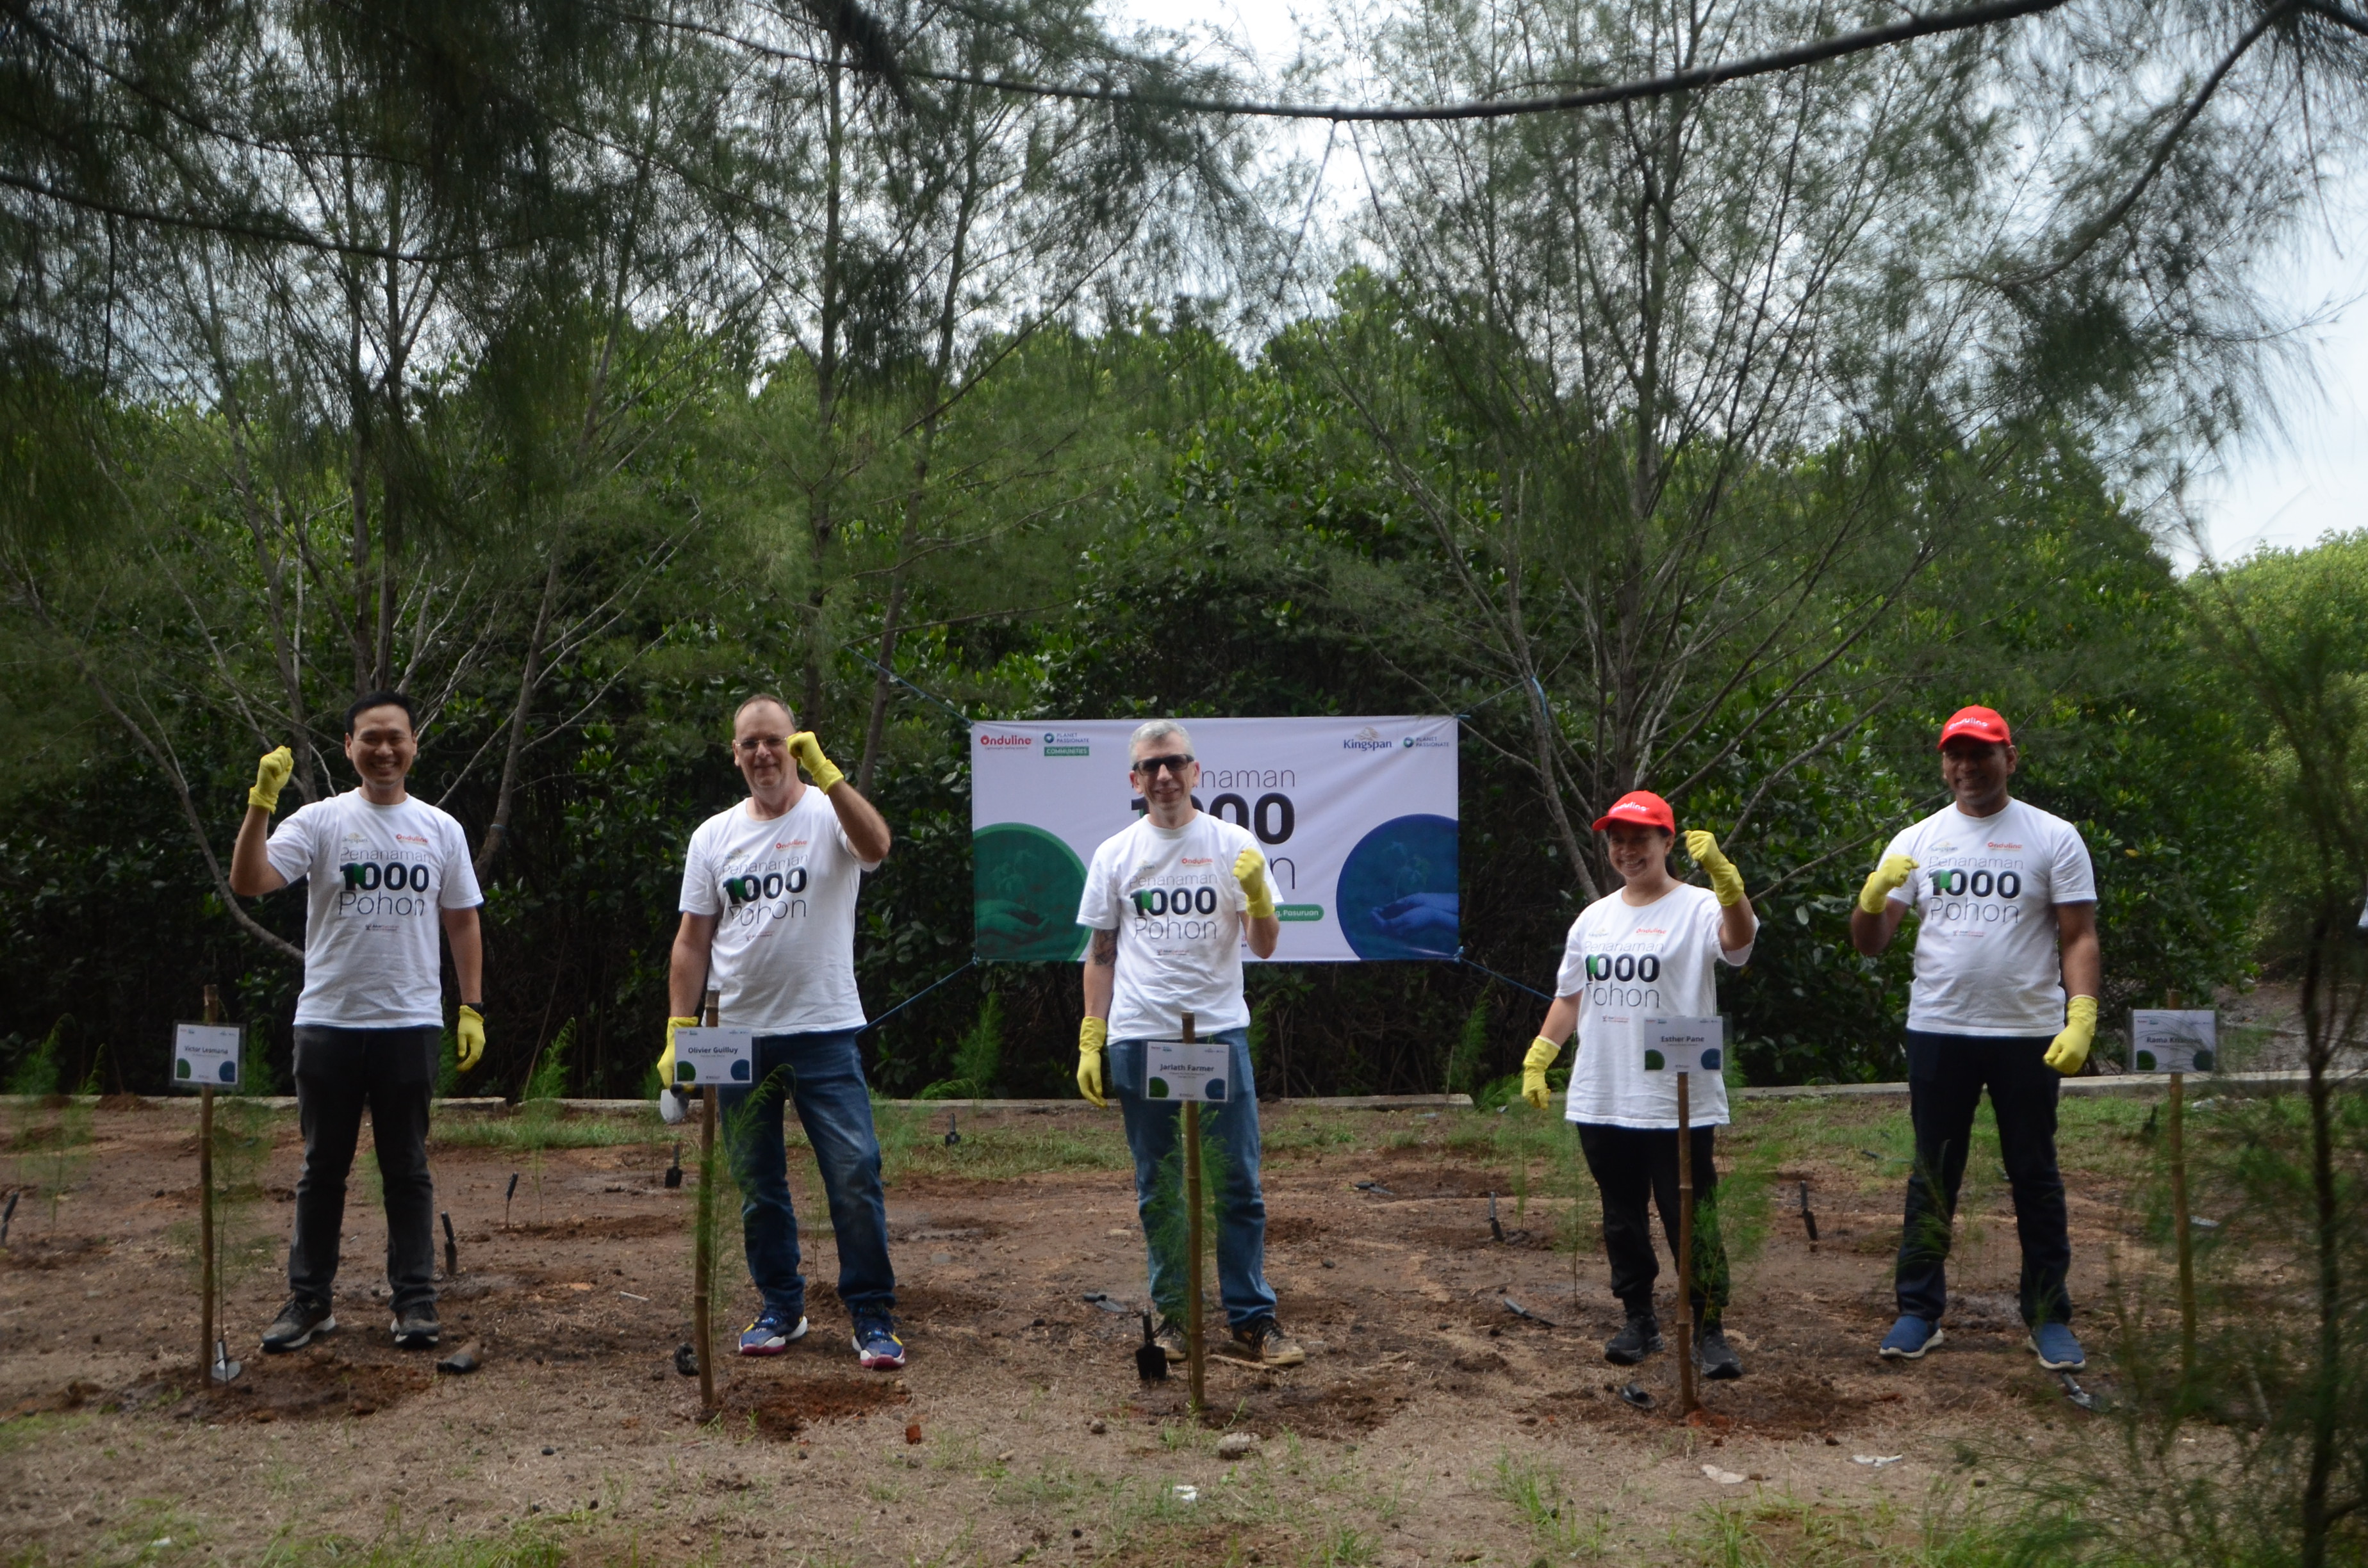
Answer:
[[[971,725],[973,952],[1085,955],[1085,867],[1144,803],[1141,720]],[[1459,945],[1456,720],[1189,718],[1193,803],[1257,836],[1274,962],[1447,959]],[[1246,950],[1248,955],[1248,950]]]

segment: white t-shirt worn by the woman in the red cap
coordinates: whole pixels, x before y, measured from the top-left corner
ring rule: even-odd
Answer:
[[[1679,883],[1636,907],[1608,893],[1579,910],[1563,943],[1553,992],[1579,1002],[1579,1056],[1570,1063],[1563,1120],[1613,1127],[1674,1127],[1677,1073],[1646,1073],[1636,1018],[1712,1018],[1719,985],[1712,964],[1743,966],[1752,945],[1719,945],[1719,900]],[[1726,1078],[1691,1073],[1686,1120],[1726,1125]]]

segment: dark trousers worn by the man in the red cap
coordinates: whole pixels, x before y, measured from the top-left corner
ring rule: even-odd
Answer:
[[[1989,1090],[1999,1118],[1999,1156],[2015,1194],[2022,1239],[2022,1322],[2072,1322],[2072,1232],[2065,1180],[2055,1170],[2055,1097],[2063,1075],[2046,1063],[2053,1035],[1928,1035],[1909,1030],[1909,1120],[1916,1170],[1909,1172],[1899,1225],[1899,1310],[1939,1322],[1949,1305],[1949,1239],[1956,1191],[1965,1180],[1973,1111]]]

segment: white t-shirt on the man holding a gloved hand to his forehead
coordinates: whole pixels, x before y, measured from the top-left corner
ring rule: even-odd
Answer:
[[[855,893],[876,860],[857,860],[831,798],[807,784],[779,817],[741,801],[691,834],[682,912],[715,917],[708,985],[722,1021],[760,1035],[862,1028],[855,990]]]

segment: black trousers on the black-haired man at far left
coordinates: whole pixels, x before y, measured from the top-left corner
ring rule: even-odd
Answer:
[[[440,1028],[296,1028],[303,1175],[296,1177],[296,1244],[289,1248],[291,1296],[324,1307],[332,1303],[346,1177],[367,1108],[386,1199],[386,1284],[395,1315],[410,1305],[436,1305],[429,1097],[436,1092],[440,1045]]]

